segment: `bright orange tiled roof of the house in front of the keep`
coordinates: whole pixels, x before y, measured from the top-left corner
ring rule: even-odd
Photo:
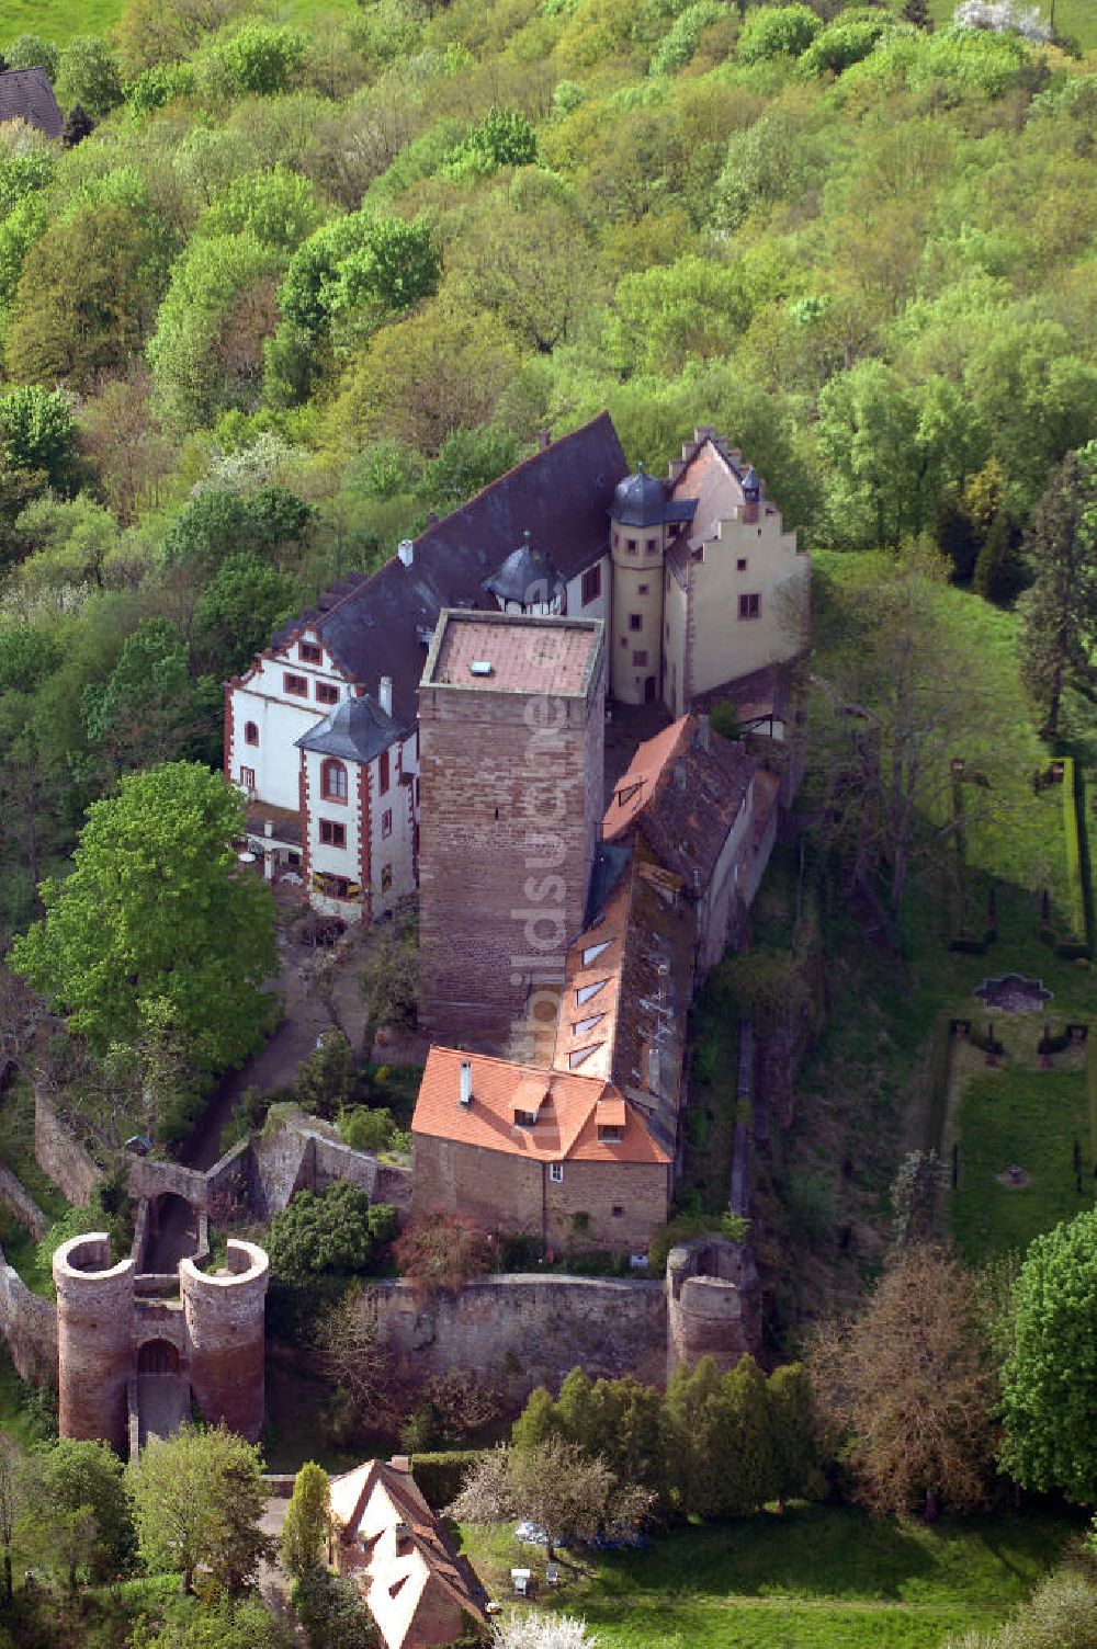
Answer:
[[[460,1103],[460,1065],[472,1065],[472,1105]],[[516,1126],[515,1110],[530,1111],[541,1097],[533,1126]],[[610,1115],[604,1113],[609,1102]],[[599,1123],[620,1126],[620,1139],[599,1139]],[[432,1047],[427,1055],[412,1135],[454,1139],[485,1151],[505,1151],[534,1163],[670,1163],[637,1110],[599,1077],[538,1070],[485,1054]]]

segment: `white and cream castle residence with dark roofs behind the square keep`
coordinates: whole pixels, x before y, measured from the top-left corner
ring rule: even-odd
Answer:
[[[680,717],[802,651],[807,582],[795,534],[713,429],[663,480],[629,473],[607,414],[546,440],[378,572],[328,590],[226,684],[224,775],[249,800],[252,851],[346,918],[414,894],[422,706],[437,726],[442,689],[459,686],[419,694],[447,610],[600,620],[605,679],[591,691]],[[490,691],[503,721],[498,681]]]

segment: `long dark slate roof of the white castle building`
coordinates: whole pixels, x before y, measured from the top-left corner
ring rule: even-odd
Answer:
[[[416,721],[416,689],[442,607],[495,610],[482,589],[523,531],[544,546],[563,579],[574,579],[605,552],[605,516],[629,465],[609,412],[561,435],[508,470],[467,505],[436,521],[412,546],[371,577],[355,574],[292,618],[274,637],[277,651],[312,627],[340,669],[376,693],[393,678],[393,716]]]

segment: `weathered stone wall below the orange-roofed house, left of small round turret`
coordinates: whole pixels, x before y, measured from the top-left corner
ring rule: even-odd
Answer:
[[[490,1276],[422,1301],[409,1283],[370,1285],[378,1334],[412,1379],[480,1375],[510,1402],[559,1387],[582,1364],[592,1379],[635,1374],[665,1384],[661,1281],[587,1276]]]

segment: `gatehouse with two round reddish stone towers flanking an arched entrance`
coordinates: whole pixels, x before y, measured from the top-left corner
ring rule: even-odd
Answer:
[[[148,1433],[190,1415],[256,1441],[264,1421],[267,1257],[229,1240],[218,1273],[180,1261],[178,1276],[111,1265],[102,1232],[53,1257],[58,1290],[59,1430],[137,1453]]]

